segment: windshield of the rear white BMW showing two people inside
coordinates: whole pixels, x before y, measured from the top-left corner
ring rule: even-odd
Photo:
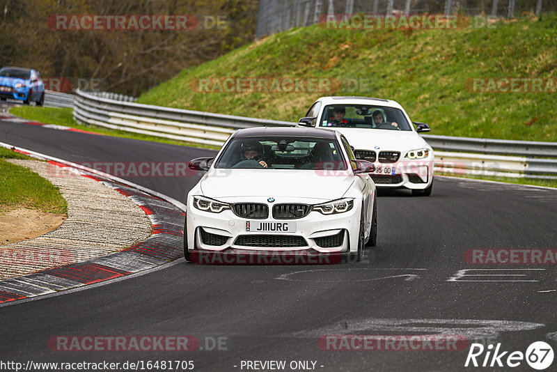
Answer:
[[[411,130],[402,110],[370,104],[330,104],[324,108],[319,126]]]

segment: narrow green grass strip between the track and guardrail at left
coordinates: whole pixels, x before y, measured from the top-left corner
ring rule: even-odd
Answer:
[[[79,125],[72,115],[71,108],[56,109],[54,107],[33,107],[33,106],[19,106],[12,107],[10,114],[19,116],[29,121],[37,121],[38,123],[63,125],[72,127],[79,130],[86,130],[87,132],[106,134],[113,137],[139,139],[141,141],[161,142],[163,144],[172,145],[187,145],[201,148],[211,148],[218,150],[218,146],[210,146],[203,144],[192,144],[191,142],[174,141],[172,139],[164,139],[160,137],[149,136],[146,134],[124,132],[123,130],[111,130],[103,127],[93,127],[86,125]]]

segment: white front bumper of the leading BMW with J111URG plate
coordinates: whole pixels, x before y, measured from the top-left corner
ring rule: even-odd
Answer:
[[[271,210],[272,203],[267,205]],[[354,200],[351,210],[335,215],[311,211],[299,219],[274,219],[271,213],[267,219],[250,219],[238,217],[232,210],[220,213],[198,210],[193,206],[193,196],[189,196],[187,247],[190,254],[199,254],[201,259],[210,257],[210,261],[219,261],[214,258],[214,253],[218,253],[223,263],[227,263],[230,255],[240,256],[235,263],[270,263],[273,256],[278,256],[281,263],[320,263],[319,256],[342,260],[358,250],[360,215],[361,201]],[[246,222],[294,222],[296,230],[288,233],[246,231]],[[242,256],[245,262],[241,262]]]

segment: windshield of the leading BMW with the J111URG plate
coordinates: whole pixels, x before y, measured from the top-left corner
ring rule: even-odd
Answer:
[[[335,139],[244,137],[230,141],[215,168],[347,169]]]

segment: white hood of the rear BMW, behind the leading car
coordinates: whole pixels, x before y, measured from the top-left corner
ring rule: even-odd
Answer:
[[[417,150],[431,146],[427,144],[420,134],[414,131],[381,130],[381,129],[356,129],[338,128],[344,134],[350,146],[356,150]]]

